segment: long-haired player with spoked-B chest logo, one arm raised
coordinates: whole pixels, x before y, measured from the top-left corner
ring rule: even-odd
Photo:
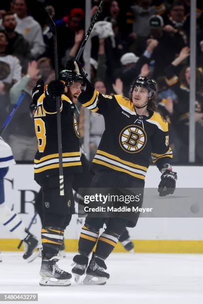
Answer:
[[[76,63],[75,63],[76,65]],[[82,72],[81,72],[82,74]],[[121,95],[102,95],[86,79],[87,88],[79,96],[84,107],[103,115],[105,131],[92,162],[96,175],[91,188],[144,188],[149,158],[162,173],[159,195],[172,194],[177,174],[172,171],[168,123],[155,112],[156,83],[149,77],[136,78],[130,88],[130,99]],[[142,202],[139,202],[141,207]],[[104,218],[88,216],[82,228],[76,263],[72,269],[76,281],[86,273],[85,284],[106,283],[109,274],[105,259],[126,227],[135,227],[139,213],[110,218],[100,235]],[[97,244],[97,245],[96,245]],[[96,250],[89,262],[94,246]]]

